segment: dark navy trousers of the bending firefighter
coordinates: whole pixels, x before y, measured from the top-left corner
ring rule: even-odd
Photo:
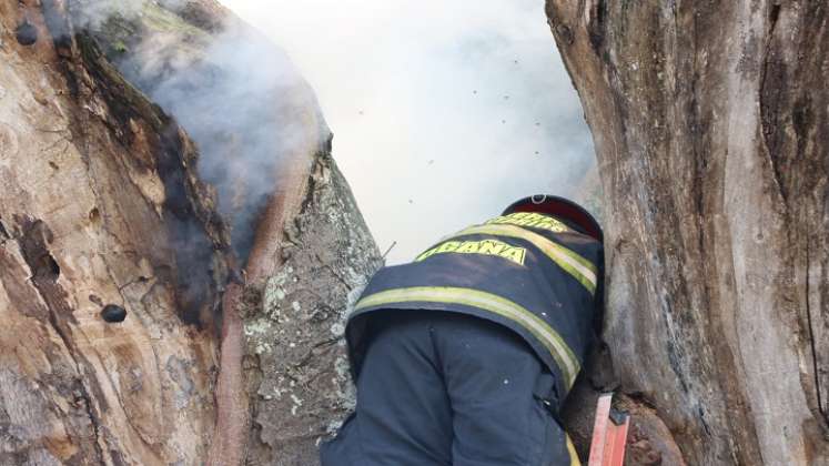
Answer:
[[[323,466],[572,464],[544,403],[553,376],[520,336],[457,313],[370,318],[356,412],[322,445]]]

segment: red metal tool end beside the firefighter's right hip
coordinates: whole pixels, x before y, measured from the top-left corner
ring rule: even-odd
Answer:
[[[588,466],[623,466],[630,416],[610,406],[613,393],[599,396]]]

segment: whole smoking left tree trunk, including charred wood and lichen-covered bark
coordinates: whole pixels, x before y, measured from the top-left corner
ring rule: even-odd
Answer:
[[[285,72],[255,102],[285,141],[257,155],[266,192],[244,163],[204,184],[199,152],[249,161],[243,98],[206,123],[164,101],[193,141],[142,91],[232,74],[220,38],[261,38],[212,0],[123,4],[0,3],[0,464],[314,464],[351,403],[342,316],[380,263],[331,134],[265,50]]]

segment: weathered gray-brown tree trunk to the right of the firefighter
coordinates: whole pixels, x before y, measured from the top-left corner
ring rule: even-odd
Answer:
[[[688,464],[829,464],[829,4],[546,10],[599,161],[621,392]]]

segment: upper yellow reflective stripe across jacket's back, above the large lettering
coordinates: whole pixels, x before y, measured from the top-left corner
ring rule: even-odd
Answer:
[[[573,275],[579,283],[594,293],[596,291],[596,266],[590,261],[574,253],[567,247],[556,244],[538,233],[533,233],[519,226],[513,225],[479,225],[463,230],[453,236],[466,234],[492,234],[496,236],[509,236],[529,241],[542,250],[553,262],[558,264],[567,273]]]

